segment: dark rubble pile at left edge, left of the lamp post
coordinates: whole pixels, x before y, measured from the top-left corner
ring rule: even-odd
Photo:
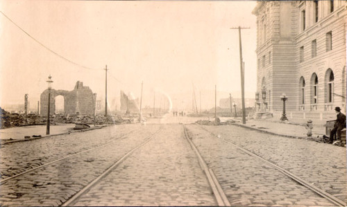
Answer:
[[[45,122],[44,118],[42,118],[41,116],[37,116],[36,114],[11,114],[8,111],[1,109],[1,107],[0,119],[0,129],[5,129],[9,127],[22,127],[28,125],[42,125]]]

